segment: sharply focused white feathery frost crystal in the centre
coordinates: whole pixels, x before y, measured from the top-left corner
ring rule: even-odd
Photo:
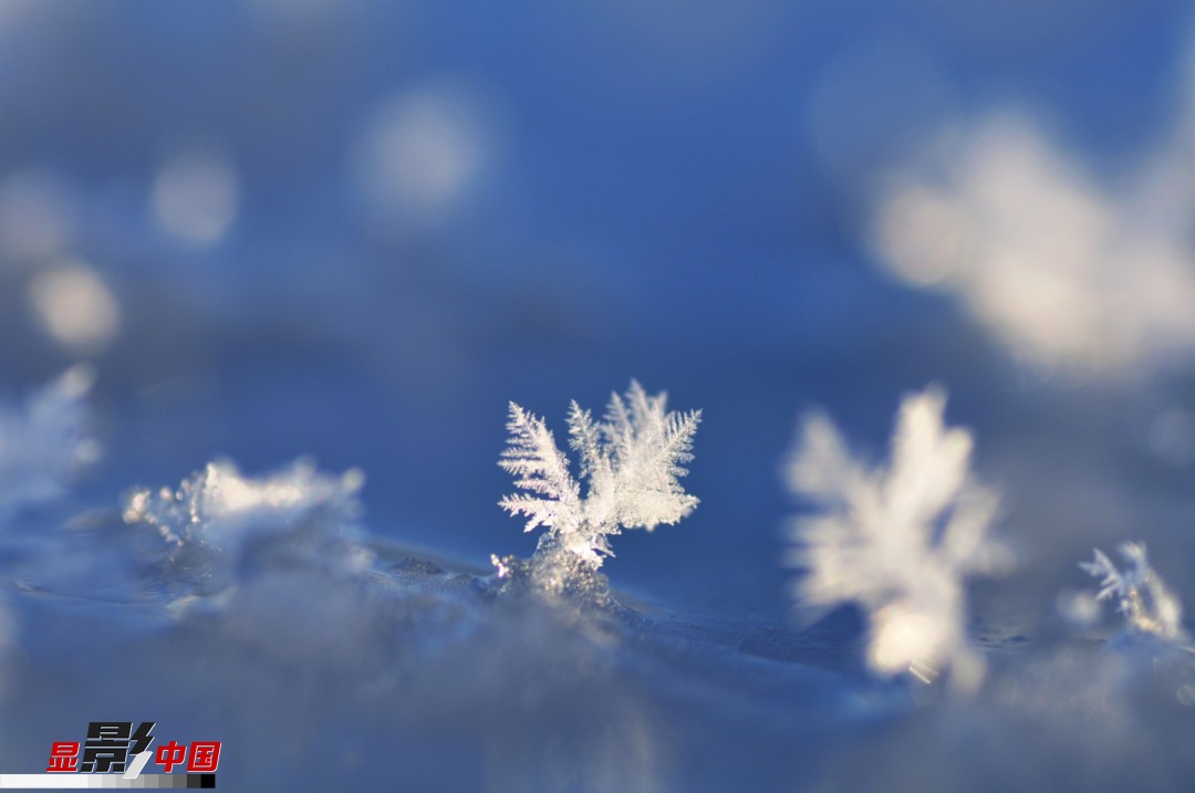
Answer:
[[[547,528],[540,551],[566,551],[592,570],[614,555],[608,537],[621,529],[676,523],[698,503],[678,479],[688,473],[701,412],[664,412],[666,400],[632,380],[625,396],[611,395],[601,422],[571,404],[569,445],[581,457],[584,497],[544,419],[510,402],[510,441],[498,465],[523,492],[498,505],[527,517],[527,531]]]

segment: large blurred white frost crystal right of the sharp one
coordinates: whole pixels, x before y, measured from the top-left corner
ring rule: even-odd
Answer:
[[[851,457],[828,418],[807,418],[786,475],[820,509],[792,524],[786,563],[805,571],[807,604],[864,608],[872,670],[929,681],[949,666],[973,689],[983,663],[966,638],[963,578],[997,572],[1005,553],[987,536],[997,498],[970,474],[972,436],[943,425],[944,406],[933,388],[906,396],[878,469]]]

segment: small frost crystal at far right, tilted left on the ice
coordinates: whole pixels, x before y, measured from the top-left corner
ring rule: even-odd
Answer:
[[[1184,638],[1183,605],[1150,567],[1145,546],[1126,542],[1120,547],[1128,563],[1123,572],[1116,568],[1104,552],[1096,548],[1092,561],[1079,563],[1091,576],[1099,578],[1097,600],[1116,598],[1117,609],[1124,615],[1129,631],[1153,634],[1163,639]]]

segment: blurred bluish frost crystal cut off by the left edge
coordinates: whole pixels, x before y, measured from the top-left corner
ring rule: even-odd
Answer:
[[[74,367],[23,406],[0,405],[0,512],[55,498],[72,473],[98,457],[85,401],[92,380],[87,368]]]

